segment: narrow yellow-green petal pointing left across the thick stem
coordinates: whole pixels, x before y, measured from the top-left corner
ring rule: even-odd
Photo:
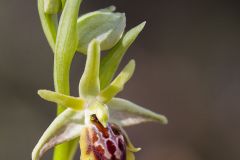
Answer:
[[[85,101],[79,97],[67,96],[61,93],[52,92],[48,90],[39,90],[38,94],[43,99],[55,102],[59,105],[74,109],[74,110],[83,110]]]

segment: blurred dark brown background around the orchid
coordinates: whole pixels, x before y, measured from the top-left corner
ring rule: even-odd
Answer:
[[[169,119],[127,129],[143,148],[137,160],[239,160],[239,3],[85,0],[81,13],[110,4],[126,12],[127,29],[147,21],[124,58],[136,59],[137,70],[120,96]],[[0,19],[0,159],[28,160],[55,116],[36,94],[53,89],[53,54],[36,0],[1,0]],[[76,55],[72,65],[73,95],[84,60]]]

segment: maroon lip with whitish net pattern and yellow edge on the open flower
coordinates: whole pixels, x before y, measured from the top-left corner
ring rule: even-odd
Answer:
[[[81,160],[126,160],[126,143],[119,128],[113,124],[104,128],[96,115],[91,122],[81,132]]]

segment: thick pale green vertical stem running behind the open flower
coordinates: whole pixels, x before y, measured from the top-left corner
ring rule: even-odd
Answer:
[[[58,93],[69,95],[70,67],[77,50],[77,18],[82,0],[67,0],[64,6],[57,32],[54,55],[54,86]],[[57,114],[65,110],[58,106]],[[72,160],[78,140],[72,140],[57,146],[54,150],[54,160]]]

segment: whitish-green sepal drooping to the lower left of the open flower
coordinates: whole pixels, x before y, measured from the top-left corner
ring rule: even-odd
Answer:
[[[54,146],[80,136],[84,123],[84,112],[65,110],[51,123],[43,133],[32,152],[32,160],[39,160]]]

